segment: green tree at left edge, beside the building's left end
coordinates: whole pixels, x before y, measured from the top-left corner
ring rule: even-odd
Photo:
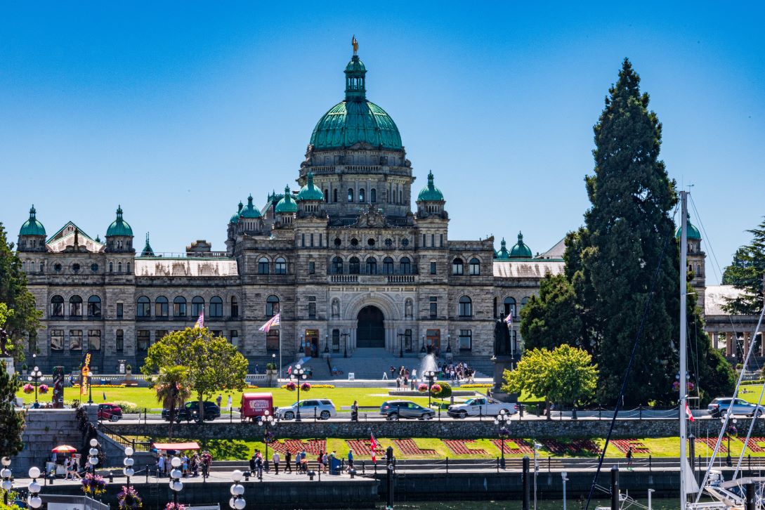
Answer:
[[[8,242],[5,228],[0,223],[0,302],[14,310],[5,324],[7,339],[0,345],[2,356],[13,356],[21,361],[24,337],[37,335],[42,313],[34,307],[34,296],[27,290],[27,276],[21,270],[21,259]]]

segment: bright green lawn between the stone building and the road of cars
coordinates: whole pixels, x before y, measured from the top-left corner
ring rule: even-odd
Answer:
[[[382,402],[389,400],[388,396],[389,388],[312,388],[311,391],[301,391],[300,398],[304,400],[306,398],[329,398],[334,402],[337,410],[340,411],[342,407],[348,407],[353,404],[354,400],[359,401],[360,406],[373,406],[379,407]],[[246,390],[246,392],[265,392],[274,395],[274,405],[277,407],[284,407],[295,403],[298,399],[297,391],[288,391],[282,388],[252,388]],[[34,393],[31,395],[24,394],[23,391],[18,391],[16,394],[18,397],[24,398],[27,404],[34,402]],[[106,400],[104,400],[106,395]],[[223,395],[223,407],[226,407],[226,401],[228,395],[233,398],[234,408],[239,407],[239,401],[242,393],[240,391],[222,391]],[[42,402],[50,401],[50,391],[47,395],[38,395],[38,400]],[[213,395],[210,400],[214,401],[217,397],[217,393]],[[79,388],[64,388],[63,398],[65,401],[72,401],[74,399],[80,399],[80,401],[87,401],[87,395],[80,396]],[[427,405],[428,397],[407,397],[407,400],[412,400],[418,404]],[[457,398],[456,401],[461,399]],[[137,405],[138,408],[148,408],[149,412],[158,412],[160,404],[158,404],[155,397],[155,393],[151,388],[98,388],[93,387],[93,401],[126,401],[132,402]],[[438,402],[438,399],[433,399],[434,402]]]

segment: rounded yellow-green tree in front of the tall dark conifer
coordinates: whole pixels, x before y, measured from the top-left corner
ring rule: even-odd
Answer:
[[[526,352],[515,370],[503,374],[502,391],[528,391],[545,398],[547,417],[550,403],[574,406],[590,401],[597,385],[597,366],[584,349],[563,344],[552,351],[532,349]]]

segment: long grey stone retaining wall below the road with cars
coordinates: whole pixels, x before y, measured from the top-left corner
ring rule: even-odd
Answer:
[[[745,431],[750,420],[740,419],[738,430]],[[112,430],[123,436],[167,437],[167,422],[109,424]],[[510,437],[606,437],[609,420],[522,420],[513,418]],[[678,422],[669,419],[617,420],[614,438],[618,437],[675,437]],[[688,434],[697,437],[716,436],[720,422],[716,419],[697,418],[688,429]],[[282,421],[276,429],[281,439],[305,439],[310,437],[337,437],[340,439],[364,439],[369,434],[376,437],[439,437],[443,439],[480,439],[496,437],[497,428],[490,419],[485,421],[461,421],[444,417],[442,421]],[[239,439],[262,436],[262,428],[252,423],[206,423],[175,424],[174,437],[193,439]],[[754,427],[754,436],[765,434],[765,420],[759,419]]]

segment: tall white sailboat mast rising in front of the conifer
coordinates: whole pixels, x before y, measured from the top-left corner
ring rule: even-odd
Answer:
[[[687,496],[685,494],[685,405],[686,397],[688,396],[688,352],[686,352],[686,329],[688,326],[688,318],[686,317],[688,307],[686,306],[686,300],[688,299],[688,286],[686,282],[686,276],[688,274],[688,192],[680,192],[680,398],[679,398],[679,415],[680,415],[680,510],[686,510],[687,508]]]

